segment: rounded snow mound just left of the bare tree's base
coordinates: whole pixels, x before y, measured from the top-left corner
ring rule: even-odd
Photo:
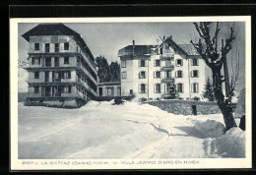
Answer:
[[[200,138],[220,138],[225,131],[224,125],[215,120],[190,120]]]

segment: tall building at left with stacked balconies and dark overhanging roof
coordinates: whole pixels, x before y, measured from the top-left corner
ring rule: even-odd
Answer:
[[[82,36],[63,24],[40,24],[23,37],[29,48],[28,101],[76,100],[96,96],[96,62]]]

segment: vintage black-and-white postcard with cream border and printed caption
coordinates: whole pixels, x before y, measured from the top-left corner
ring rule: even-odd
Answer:
[[[10,19],[11,170],[251,168],[251,18]]]

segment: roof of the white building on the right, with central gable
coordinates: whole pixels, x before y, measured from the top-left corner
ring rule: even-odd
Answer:
[[[199,55],[197,50],[192,44],[177,44],[172,39],[166,39],[164,42],[171,42],[177,46],[186,55]],[[160,43],[161,45],[162,43]],[[157,48],[160,45],[135,45],[135,55],[151,54],[153,50],[151,48]],[[133,45],[127,45],[126,47],[118,50],[118,55],[133,55]]]

